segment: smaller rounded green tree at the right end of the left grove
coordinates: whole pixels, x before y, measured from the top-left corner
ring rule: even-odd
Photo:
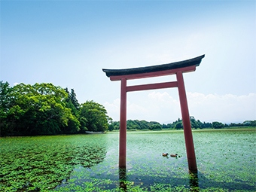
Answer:
[[[103,132],[108,130],[107,111],[103,105],[93,101],[87,101],[81,105],[79,112],[80,119],[84,118],[84,127],[89,131]]]

